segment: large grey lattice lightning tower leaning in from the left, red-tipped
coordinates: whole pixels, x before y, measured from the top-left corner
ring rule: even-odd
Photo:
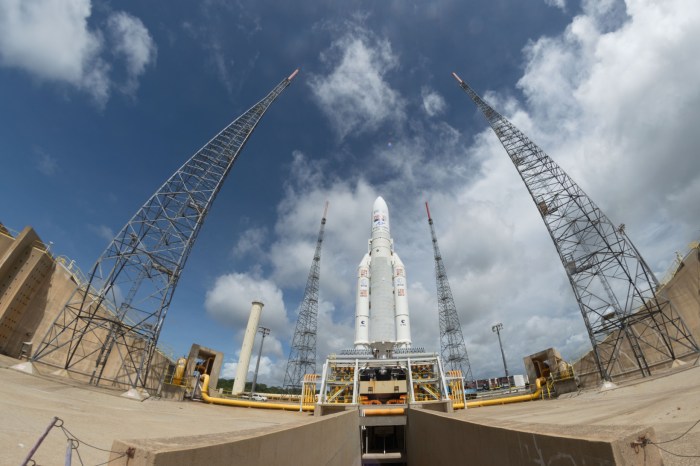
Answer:
[[[82,372],[92,367],[95,385],[108,363],[118,364],[117,381],[146,387],[175,287],[204,219],[263,114],[297,72],[214,136],[146,201],[59,312],[33,361],[59,360],[63,369]]]

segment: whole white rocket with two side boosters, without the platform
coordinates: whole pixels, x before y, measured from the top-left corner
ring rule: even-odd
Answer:
[[[382,355],[411,346],[406,271],[393,244],[389,208],[380,196],[372,207],[369,251],[357,268],[355,348],[371,348]]]

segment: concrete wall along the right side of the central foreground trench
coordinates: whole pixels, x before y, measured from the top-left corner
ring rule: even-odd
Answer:
[[[468,411],[467,411],[468,412]],[[409,465],[613,466],[663,464],[656,447],[635,448],[653,429],[472,423],[430,411],[408,412]]]

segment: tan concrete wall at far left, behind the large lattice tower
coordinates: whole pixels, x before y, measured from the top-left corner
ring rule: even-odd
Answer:
[[[25,343],[31,344],[32,351],[36,350],[77,286],[74,275],[46,251],[46,246],[31,227],[26,227],[13,238],[0,225],[0,353],[14,358],[24,357]],[[96,313],[106,318],[113,317],[104,309],[98,309]],[[67,338],[68,333],[65,335]],[[106,336],[107,330],[86,334],[81,353],[75,358],[79,362],[66,375],[88,381]],[[58,345],[63,341],[59,339]],[[139,348],[143,341],[127,336],[118,345]],[[63,347],[48,354],[41,360],[47,365],[37,367],[48,370],[64,367],[67,349]],[[123,348],[121,352],[124,352]],[[80,360],[83,355],[89,357]],[[147,381],[149,389],[158,389],[169,363],[165,355],[156,353]],[[129,387],[129,372],[134,370],[122,367],[119,351],[115,348],[107,360],[100,385],[126,389]]]

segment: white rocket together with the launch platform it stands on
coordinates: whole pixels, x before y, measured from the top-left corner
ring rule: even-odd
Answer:
[[[463,379],[461,371],[446,373],[437,353],[412,346],[406,268],[381,196],[370,226],[357,268],[354,348],[331,354],[320,380],[305,381],[303,398],[316,401],[317,416],[358,412],[362,464],[407,464],[408,411],[464,408]]]

